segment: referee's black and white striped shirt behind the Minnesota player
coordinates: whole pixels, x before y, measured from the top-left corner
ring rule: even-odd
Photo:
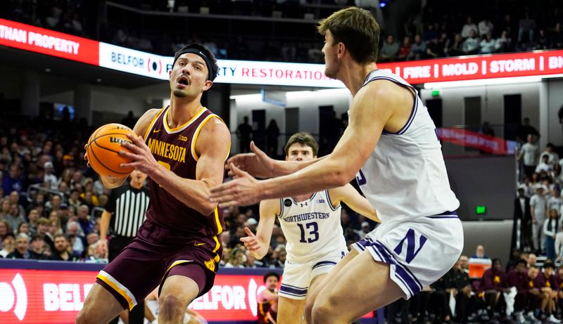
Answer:
[[[111,191],[106,211],[113,214],[110,228],[113,234],[134,238],[146,218],[148,188],[135,189],[127,185]]]

